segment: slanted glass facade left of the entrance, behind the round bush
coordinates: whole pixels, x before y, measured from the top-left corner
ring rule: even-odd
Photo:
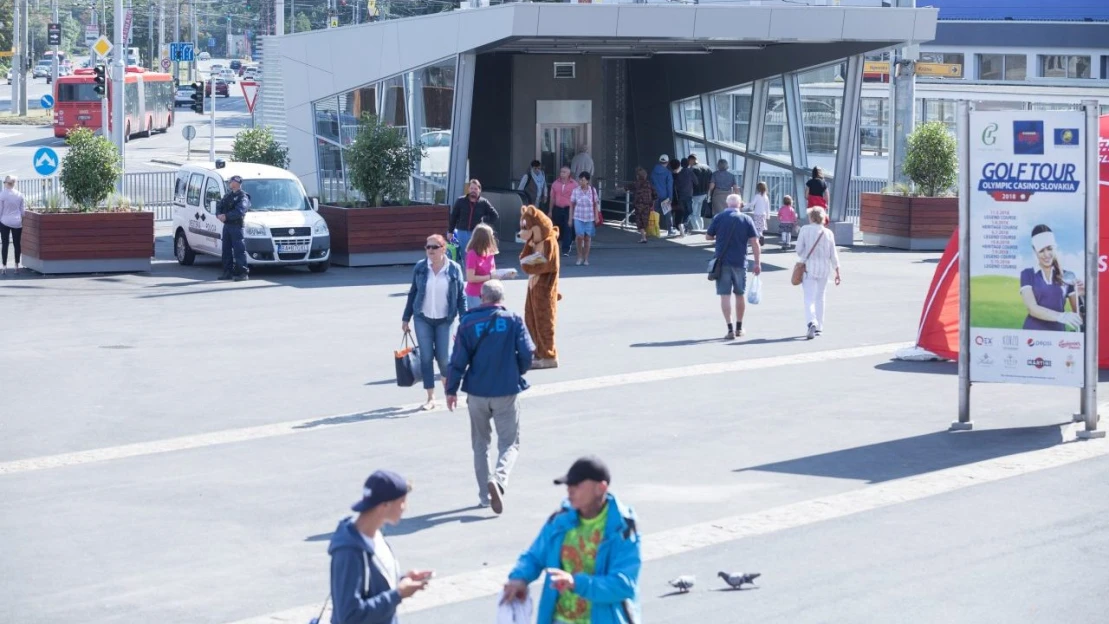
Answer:
[[[323,202],[364,201],[346,174],[346,151],[364,115],[403,130],[425,153],[413,168],[407,197],[395,202],[445,203],[450,168],[457,61],[454,57],[381,82],[366,84],[313,103],[316,158]]]

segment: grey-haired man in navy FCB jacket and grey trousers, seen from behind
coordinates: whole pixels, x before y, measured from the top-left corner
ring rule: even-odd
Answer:
[[[481,305],[462,317],[447,374],[447,409],[458,405],[458,387],[468,395],[474,474],[481,507],[505,510],[508,478],[520,448],[519,393],[528,389],[523,374],[536,345],[523,319],[503,306],[499,279],[481,285]],[[497,428],[497,468],[489,475],[489,444]]]

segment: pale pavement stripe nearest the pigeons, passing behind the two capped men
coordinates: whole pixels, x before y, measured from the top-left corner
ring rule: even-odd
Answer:
[[[1074,428],[1071,424],[1062,427],[1065,431]],[[1074,436],[1070,433],[1064,437]],[[644,562],[657,561],[708,546],[798,529],[1106,456],[1109,456],[1109,440],[1106,439],[1065,442],[1047,449],[989,459],[876,485],[864,485],[857,490],[754,513],[668,529],[643,535],[642,559]],[[538,526],[536,529],[538,530]],[[523,545],[521,544],[521,548]],[[498,565],[436,579],[427,592],[403,602],[399,612],[413,613],[494,596],[500,592],[511,569],[512,565]],[[318,613],[318,604],[304,605],[269,615],[240,620],[233,624],[294,622],[302,624]]]

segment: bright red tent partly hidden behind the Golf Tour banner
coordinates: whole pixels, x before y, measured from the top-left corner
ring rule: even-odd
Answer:
[[[1100,227],[1098,236],[1101,255],[1098,258],[1098,368],[1109,368],[1109,115],[1101,117],[1099,154]],[[958,232],[952,235],[939,258],[939,266],[932,276],[928,296],[924,299],[920,327],[916,335],[918,349],[930,351],[946,359],[957,359],[959,354],[959,241]],[[919,350],[913,358],[919,358]]]

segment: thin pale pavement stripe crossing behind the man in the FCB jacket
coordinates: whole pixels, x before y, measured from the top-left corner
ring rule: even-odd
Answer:
[[[563,395],[567,392],[580,392],[584,390],[599,390],[602,388],[614,388],[618,386],[630,386],[634,383],[653,383],[668,379],[680,379],[684,377],[700,377],[704,375],[719,375],[723,372],[739,372],[743,370],[762,370],[786,365],[803,365],[824,362],[830,360],[841,360],[848,358],[862,358],[892,354],[899,348],[908,346],[903,342],[887,345],[869,345],[865,347],[852,347],[847,349],[832,349],[826,351],[814,351],[807,354],[796,354],[792,356],[773,356],[766,358],[752,358],[744,360],[701,364],[683,366],[678,368],[663,368],[658,370],[642,370],[638,372],[625,372],[594,377],[591,379],[574,379],[569,381],[556,381],[552,383],[541,383],[532,386],[525,395],[528,399],[532,397],[547,397],[551,395]],[[0,477],[6,474],[18,474],[21,472],[33,472],[37,470],[49,470],[68,466],[82,466],[101,461],[111,461],[134,457],[152,456],[157,453],[169,453],[214,447],[216,444],[230,444],[233,442],[245,442],[248,440],[261,440],[265,438],[276,438],[279,436],[291,436],[294,433],[305,433],[319,429],[330,429],[343,424],[355,424],[364,422],[369,416],[389,416],[411,413],[420,408],[420,403],[405,406],[394,406],[370,410],[363,413],[344,413],[323,418],[309,418],[304,420],[293,420],[288,422],[277,422],[274,424],[262,424],[257,427],[246,427],[242,429],[228,429],[224,431],[213,431],[211,433],[197,433],[194,436],[183,436],[180,438],[169,438],[165,440],[153,440],[150,442],[135,442],[119,447],[106,447],[91,449],[88,451],[77,451],[37,458],[19,459],[0,463]],[[438,408],[425,413],[446,411],[446,408]]]

